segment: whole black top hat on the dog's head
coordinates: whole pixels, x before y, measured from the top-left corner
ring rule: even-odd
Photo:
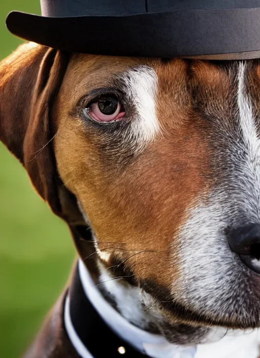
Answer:
[[[41,0],[11,12],[9,31],[70,52],[260,58],[260,0]]]

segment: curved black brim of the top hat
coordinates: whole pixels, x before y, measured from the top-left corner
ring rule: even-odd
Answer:
[[[69,52],[260,58],[260,8],[80,17],[44,17],[13,11],[6,25],[22,39]]]

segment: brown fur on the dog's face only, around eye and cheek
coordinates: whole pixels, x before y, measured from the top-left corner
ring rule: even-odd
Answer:
[[[184,208],[205,186],[201,171],[205,166],[206,147],[199,126],[194,127],[193,119],[186,118],[190,110],[190,99],[185,92],[187,66],[180,60],[177,60],[179,66],[143,60],[144,65],[155,67],[158,78],[164,82],[162,87],[159,82],[158,117],[165,131],[138,161],[118,174],[117,170],[108,170],[113,168],[113,163],[107,165],[103,153],[96,148],[96,141],[102,137],[98,139],[98,133],[84,126],[79,117],[73,118],[71,113],[85,93],[108,86],[111,74],[138,66],[141,60],[95,56],[93,61],[89,55],[75,57],[64,76],[54,109],[58,172],[80,199],[98,240],[125,243],[126,250],[154,250],[154,253],[143,253],[142,259],[133,256],[128,265],[137,279],[152,277],[169,286],[174,274],[172,266],[178,267],[169,256],[169,245],[184,220]],[[76,83],[76,91],[72,83]],[[176,102],[169,109],[173,91],[181,86],[183,97],[176,96]],[[161,189],[161,183],[167,190]],[[109,245],[101,245],[101,249],[105,247]],[[120,253],[120,250],[116,254],[121,259],[129,256],[129,252]],[[175,260],[178,261],[177,245]]]

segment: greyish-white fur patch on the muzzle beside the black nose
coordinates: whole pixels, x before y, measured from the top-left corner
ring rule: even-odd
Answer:
[[[180,277],[172,288],[185,307],[198,313],[212,312],[216,317],[220,309],[232,303],[234,281],[230,271],[236,270],[233,254],[224,244],[224,213],[217,199],[216,195],[208,205],[201,203],[190,209],[179,235]],[[224,301],[228,297],[231,300]]]

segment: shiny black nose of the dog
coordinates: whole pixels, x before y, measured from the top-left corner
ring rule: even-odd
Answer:
[[[260,224],[247,224],[229,229],[227,234],[231,251],[237,253],[251,270],[260,274]]]

